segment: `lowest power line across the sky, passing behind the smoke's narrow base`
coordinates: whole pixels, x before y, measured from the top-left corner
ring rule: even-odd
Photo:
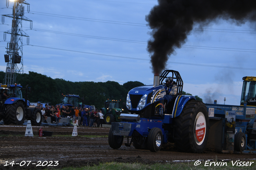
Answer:
[[[134,59],[134,60],[150,61],[150,59],[140,59],[140,58],[135,58],[135,57],[124,57],[124,56],[118,56],[118,55],[108,55],[108,54],[100,54],[100,53],[89,53],[89,52],[84,52],[84,51],[75,51],[75,50],[68,50],[68,49],[58,49],[58,48],[44,47],[44,46],[39,46],[39,45],[30,45],[30,46],[42,47],[42,48],[48,48],[48,49],[56,49],[56,50],[62,50],[62,51],[71,51],[71,52],[76,52],[76,53],[86,53],[86,54],[92,54],[92,55],[102,55],[102,56],[108,56],[108,57],[117,57],[117,58],[123,58],[123,59]],[[216,65],[208,65],[208,64],[180,63],[180,62],[172,62],[172,61],[167,61],[167,63],[186,64],[186,65],[194,65],[194,66],[207,66],[207,67],[217,67],[217,68],[232,68],[232,69],[240,69],[240,70],[256,70],[256,68],[216,66]]]

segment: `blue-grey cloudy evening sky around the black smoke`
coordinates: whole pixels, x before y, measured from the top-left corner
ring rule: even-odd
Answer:
[[[72,82],[139,81],[153,84],[147,51],[151,38],[145,16],[157,0],[26,0],[22,21],[24,73],[37,72]],[[0,1],[0,14],[13,2]],[[29,10],[29,11],[28,11]],[[3,18],[3,17],[2,17]],[[0,25],[0,71],[10,41],[12,18]],[[166,69],[180,72],[183,91],[205,103],[240,105],[242,77],[256,76],[256,24],[216,20],[193,25],[186,43],[168,59]]]

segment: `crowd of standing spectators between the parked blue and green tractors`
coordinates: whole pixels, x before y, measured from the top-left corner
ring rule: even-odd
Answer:
[[[59,123],[60,119],[67,117],[71,122],[78,121],[78,125],[102,127],[104,119],[102,111],[98,111],[98,109],[92,109],[92,111],[90,111],[90,108],[83,109],[81,107],[68,107],[64,105],[60,108],[60,105],[48,106],[48,104],[45,104],[45,107],[43,107],[43,104],[40,103],[38,103],[36,107],[41,110],[44,123],[48,123],[48,117],[51,118],[51,123]]]

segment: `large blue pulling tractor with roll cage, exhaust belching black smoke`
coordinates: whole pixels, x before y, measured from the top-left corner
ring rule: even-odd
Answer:
[[[168,102],[164,80],[172,77],[177,94]],[[121,122],[112,122],[108,143],[113,149],[125,145],[157,152],[163,144],[175,143],[183,152],[202,152],[209,135],[208,111],[194,96],[182,95],[183,81],[178,71],[165,70],[154,76],[154,84],[133,88],[127,94],[129,113],[121,113]],[[130,139],[130,141],[129,141]]]

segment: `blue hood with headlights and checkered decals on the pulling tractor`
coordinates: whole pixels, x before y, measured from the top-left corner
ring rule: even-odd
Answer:
[[[136,87],[127,94],[126,107],[130,111],[140,111],[154,102],[163,100],[165,94],[163,85]]]

